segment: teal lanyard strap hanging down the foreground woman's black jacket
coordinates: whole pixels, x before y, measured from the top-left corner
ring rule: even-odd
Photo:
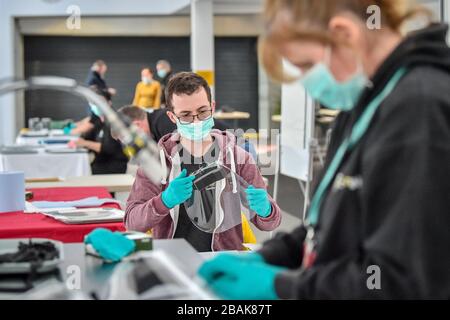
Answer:
[[[309,214],[307,218],[307,225],[312,227],[317,225],[320,215],[320,206],[322,204],[323,198],[331,181],[333,181],[337,170],[339,169],[339,166],[344,159],[344,156],[347,154],[347,152],[352,151],[355,145],[364,136],[367,129],[369,128],[373,116],[375,115],[375,112],[378,110],[378,107],[381,105],[384,99],[386,99],[386,97],[392,93],[405,73],[406,69],[402,68],[394,74],[391,80],[389,80],[386,87],[384,87],[383,91],[381,91],[381,93],[370,102],[361,117],[358,119],[358,121],[356,121],[355,125],[352,128],[350,137],[345,139],[337,150],[311,201],[311,207],[309,208]]]

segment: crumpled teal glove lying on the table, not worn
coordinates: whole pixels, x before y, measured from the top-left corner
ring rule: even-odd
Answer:
[[[123,234],[103,228],[97,228],[89,233],[84,242],[91,244],[103,259],[113,262],[120,261],[136,247],[135,242]]]

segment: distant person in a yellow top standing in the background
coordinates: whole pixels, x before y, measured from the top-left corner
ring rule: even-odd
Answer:
[[[141,71],[141,81],[136,85],[133,105],[145,109],[159,109],[161,106],[161,85],[153,79],[150,68]]]

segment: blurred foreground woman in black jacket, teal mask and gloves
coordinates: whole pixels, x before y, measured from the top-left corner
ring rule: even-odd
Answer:
[[[415,12],[401,0],[267,1],[269,73],[284,80],[287,59],[342,112],[305,225],[204,264],[218,295],[450,298],[450,50],[446,25],[402,34]]]

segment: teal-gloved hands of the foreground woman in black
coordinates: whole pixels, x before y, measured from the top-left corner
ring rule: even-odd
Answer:
[[[258,254],[250,257],[222,254],[205,262],[198,273],[224,299],[278,299],[275,278],[285,269],[261,260],[262,257]]]

